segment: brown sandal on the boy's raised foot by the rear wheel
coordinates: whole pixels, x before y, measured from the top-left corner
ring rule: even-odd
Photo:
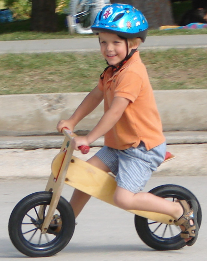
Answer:
[[[192,237],[192,239],[186,242],[188,246],[192,246],[198,237],[198,204],[195,200],[189,200],[188,202],[185,200],[177,200],[177,202],[179,202],[183,208],[183,215],[178,219],[178,221],[174,222],[174,224],[176,226],[184,226],[185,230],[180,233],[180,237]],[[190,220],[193,221],[193,225],[190,224]]]

